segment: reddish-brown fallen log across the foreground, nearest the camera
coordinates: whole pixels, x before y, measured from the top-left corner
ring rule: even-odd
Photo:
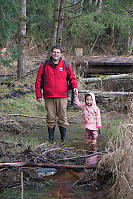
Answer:
[[[3,167],[42,167],[42,168],[56,168],[56,169],[96,169],[96,164],[88,166],[80,165],[64,165],[64,164],[45,164],[34,162],[14,162],[14,163],[0,163],[0,168]]]

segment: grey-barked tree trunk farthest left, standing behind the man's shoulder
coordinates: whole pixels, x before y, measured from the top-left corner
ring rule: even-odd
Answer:
[[[20,57],[17,64],[17,76],[22,78],[25,76],[26,63],[26,0],[21,0],[21,16],[19,24],[19,52]]]

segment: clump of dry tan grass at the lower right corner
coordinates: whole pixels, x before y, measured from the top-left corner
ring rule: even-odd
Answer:
[[[113,184],[108,198],[130,199],[132,198],[133,193],[132,116],[126,117],[126,120],[120,123],[118,131],[118,139],[116,138],[115,143],[112,143],[114,151],[104,155],[101,163],[102,165],[108,165],[107,168],[114,175],[114,179],[112,181]],[[111,143],[111,141],[108,143],[108,145]]]

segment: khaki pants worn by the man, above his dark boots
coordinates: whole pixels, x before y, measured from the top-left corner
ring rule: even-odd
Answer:
[[[49,128],[56,126],[56,120],[58,126],[66,128],[69,126],[67,122],[67,98],[45,98],[45,108],[47,110],[46,122]]]

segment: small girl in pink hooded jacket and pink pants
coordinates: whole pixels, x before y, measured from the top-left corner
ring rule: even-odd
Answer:
[[[85,103],[78,99],[78,94],[75,93],[75,104],[82,109],[82,126],[85,129],[86,143],[96,144],[98,137],[97,130],[101,127],[100,110],[96,106],[94,93],[85,94]]]

